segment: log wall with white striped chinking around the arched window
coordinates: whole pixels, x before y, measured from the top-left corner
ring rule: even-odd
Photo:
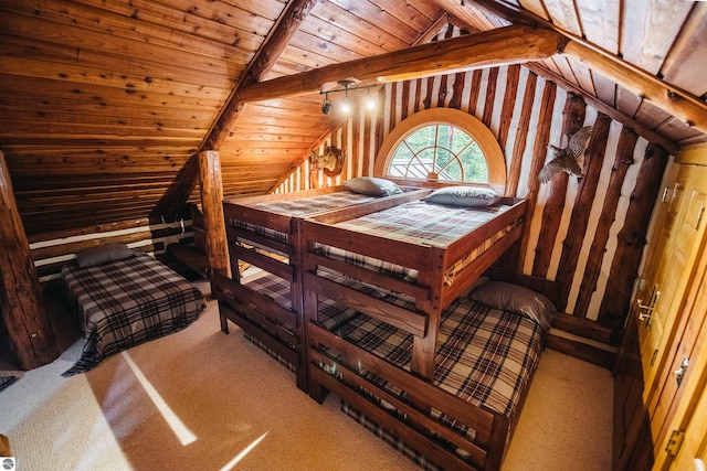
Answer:
[[[277,192],[372,175],[377,149],[405,117],[430,107],[462,109],[497,136],[506,157],[506,194],[530,201],[518,272],[573,318],[623,328],[665,151],[519,65],[388,84],[379,101],[374,113],[361,108],[326,142],[346,152],[341,175],[310,175],[304,162]],[[551,157],[547,146],[561,146],[562,133],[581,126],[594,126],[584,179],[562,175],[540,184],[537,174]]]

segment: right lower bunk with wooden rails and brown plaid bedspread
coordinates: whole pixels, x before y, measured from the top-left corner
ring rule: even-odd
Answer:
[[[506,285],[488,285],[496,287]],[[500,469],[550,319],[502,310],[507,306],[488,306],[473,295],[455,299],[441,315],[429,381],[411,372],[411,333],[318,298],[329,310],[349,314],[335,329],[316,317],[307,324],[316,399],[336,394],[346,414],[423,468]],[[379,298],[411,308],[411,301],[392,295]]]

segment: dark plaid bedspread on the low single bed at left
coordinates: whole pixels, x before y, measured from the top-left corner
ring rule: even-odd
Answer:
[[[67,264],[62,281],[85,338],[81,358],[62,376],[181,330],[207,306],[194,285],[144,254],[89,268]]]

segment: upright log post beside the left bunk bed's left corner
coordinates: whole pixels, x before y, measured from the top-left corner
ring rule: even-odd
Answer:
[[[231,263],[229,259],[229,246],[225,239],[223,183],[221,180],[219,151],[205,150],[199,152],[199,178],[209,267],[211,270],[215,270],[230,278]]]

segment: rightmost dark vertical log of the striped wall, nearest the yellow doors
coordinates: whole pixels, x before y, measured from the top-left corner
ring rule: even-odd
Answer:
[[[599,322],[602,325],[614,329],[623,325],[651,221],[651,212],[646,208],[655,204],[667,158],[667,152],[653,143],[645,150],[645,159],[631,193],[631,204],[618,235],[619,247],[609,272],[611,282],[606,285],[599,311]]]

